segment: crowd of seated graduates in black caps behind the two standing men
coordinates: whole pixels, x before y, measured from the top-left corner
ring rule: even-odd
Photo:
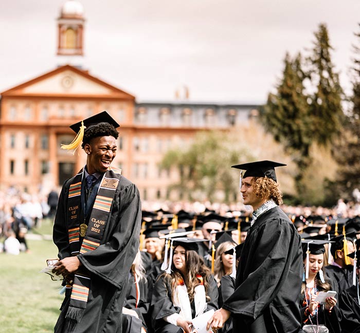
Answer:
[[[298,306],[302,325],[315,332],[327,331],[324,327],[330,332],[360,332],[360,265],[356,267],[354,260],[355,254],[360,255],[360,217],[338,217],[341,205],[332,210],[334,215],[293,215],[294,208],[282,208],[301,236],[304,272]],[[302,212],[311,213],[311,209]],[[343,216],[353,213],[348,209]],[[249,211],[142,211],[140,249],[129,273],[123,331],[138,332],[141,327],[148,332],[190,332],[192,318],[221,308],[235,290],[250,221]],[[267,269],[264,274],[280,278],[281,270]],[[256,276],[253,279],[257,286],[266,276],[259,276],[259,283]],[[319,304],[312,295],[321,291],[336,294]],[[264,298],[261,302],[271,302],[272,292]],[[233,331],[231,317],[220,331]]]

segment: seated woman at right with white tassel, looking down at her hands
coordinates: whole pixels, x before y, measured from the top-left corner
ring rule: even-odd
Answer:
[[[334,283],[326,279],[322,271],[323,244],[329,241],[303,239],[303,261],[305,273],[301,286],[301,319],[302,329],[305,332],[330,332],[341,331],[338,321],[337,300],[335,297],[326,298],[326,303],[321,305],[316,301],[320,291],[334,290]]]

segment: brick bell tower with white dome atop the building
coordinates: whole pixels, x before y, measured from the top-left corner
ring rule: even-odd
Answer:
[[[77,0],[67,0],[58,18],[58,55],[83,55],[84,10]]]

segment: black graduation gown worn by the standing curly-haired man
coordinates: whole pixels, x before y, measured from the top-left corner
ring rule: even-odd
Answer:
[[[275,207],[250,228],[240,256],[235,291],[224,302],[234,332],[297,332],[302,283],[301,239]]]

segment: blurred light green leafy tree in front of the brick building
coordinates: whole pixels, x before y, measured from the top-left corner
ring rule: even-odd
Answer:
[[[225,201],[239,193],[239,173],[231,165],[254,159],[251,154],[229,133],[202,132],[195,136],[187,149],[168,151],[161,167],[176,168],[179,181],[173,184],[183,198],[219,200],[217,193],[224,194]]]

